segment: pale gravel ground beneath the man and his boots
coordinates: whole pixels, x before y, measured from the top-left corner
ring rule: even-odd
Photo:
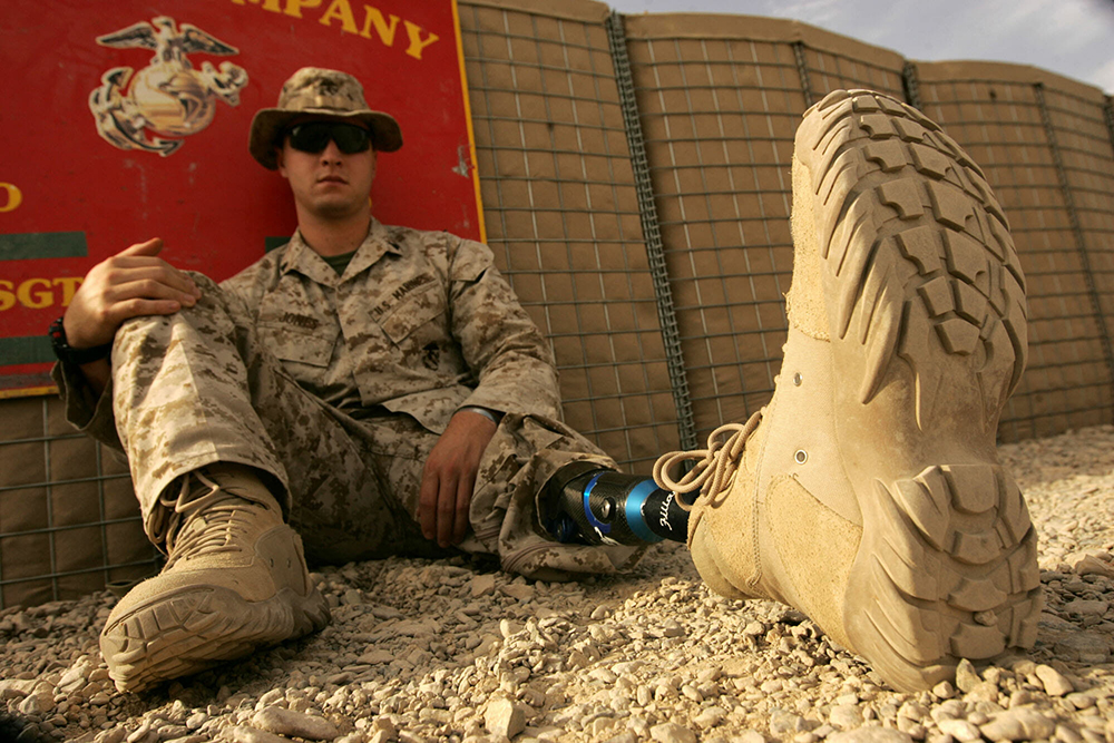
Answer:
[[[682,546],[616,579],[470,558],[315,574],[321,634],[143,695],[97,651],[106,593],[0,614],[0,741],[1114,743],[1114,427],[1001,448],[1040,529],[1025,656],[898,694],[800,613],[729,602]]]

